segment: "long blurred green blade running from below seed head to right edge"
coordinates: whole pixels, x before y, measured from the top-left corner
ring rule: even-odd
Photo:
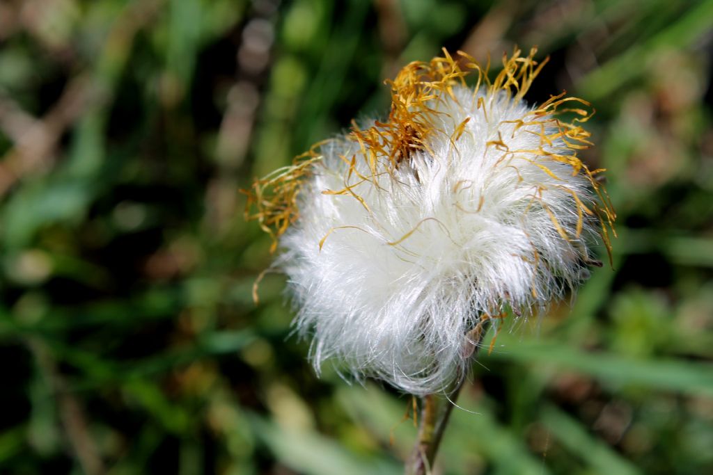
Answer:
[[[517,341],[498,336],[498,349],[488,360],[511,360],[526,365],[553,365],[592,375],[613,385],[639,385],[689,395],[713,396],[713,365],[685,360],[637,360],[612,353],[587,353],[560,342]]]

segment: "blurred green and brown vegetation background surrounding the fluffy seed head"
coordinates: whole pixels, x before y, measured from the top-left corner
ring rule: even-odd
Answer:
[[[538,45],[591,100],[612,268],[473,365],[443,474],[713,473],[713,1],[0,1],[0,472],[399,474],[411,400],[321,380],[238,190],[381,81]],[[498,61],[493,61],[497,68]]]

